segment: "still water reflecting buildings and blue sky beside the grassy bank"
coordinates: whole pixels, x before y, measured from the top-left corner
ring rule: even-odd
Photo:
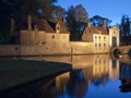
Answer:
[[[107,54],[23,59],[68,62],[73,70],[34,90],[23,88],[22,93],[9,93],[8,96],[19,94],[13,98],[131,98],[131,60],[128,56],[121,59]]]

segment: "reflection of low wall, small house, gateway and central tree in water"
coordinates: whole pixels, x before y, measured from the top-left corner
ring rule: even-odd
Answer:
[[[62,88],[62,95],[83,98],[90,84],[105,86],[109,79],[119,78],[119,60],[112,60],[107,54],[72,56],[71,59],[73,71],[56,77],[57,89]]]

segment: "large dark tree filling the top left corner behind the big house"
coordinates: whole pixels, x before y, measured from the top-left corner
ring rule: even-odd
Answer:
[[[0,0],[0,39],[10,34],[10,19],[13,17],[20,28],[27,15],[52,19],[57,0]],[[57,9],[58,10],[58,9]],[[8,29],[8,30],[7,30]]]

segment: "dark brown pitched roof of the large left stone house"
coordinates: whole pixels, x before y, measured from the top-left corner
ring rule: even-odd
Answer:
[[[66,23],[59,20],[60,23],[60,33],[69,33]],[[41,20],[41,19],[32,19],[32,28],[34,29],[37,26],[38,30],[45,30],[46,33],[56,33],[56,24],[51,20]],[[22,29],[27,29],[27,22],[22,26]]]

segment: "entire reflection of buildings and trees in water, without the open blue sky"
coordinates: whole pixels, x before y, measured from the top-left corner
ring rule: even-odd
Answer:
[[[37,59],[71,63],[73,68],[71,72],[57,76],[51,86],[46,87],[49,96],[83,98],[91,84],[105,87],[108,82],[118,79],[121,82],[118,87],[121,91],[131,91],[131,64],[127,56],[122,59],[111,59],[108,54],[37,57]]]

